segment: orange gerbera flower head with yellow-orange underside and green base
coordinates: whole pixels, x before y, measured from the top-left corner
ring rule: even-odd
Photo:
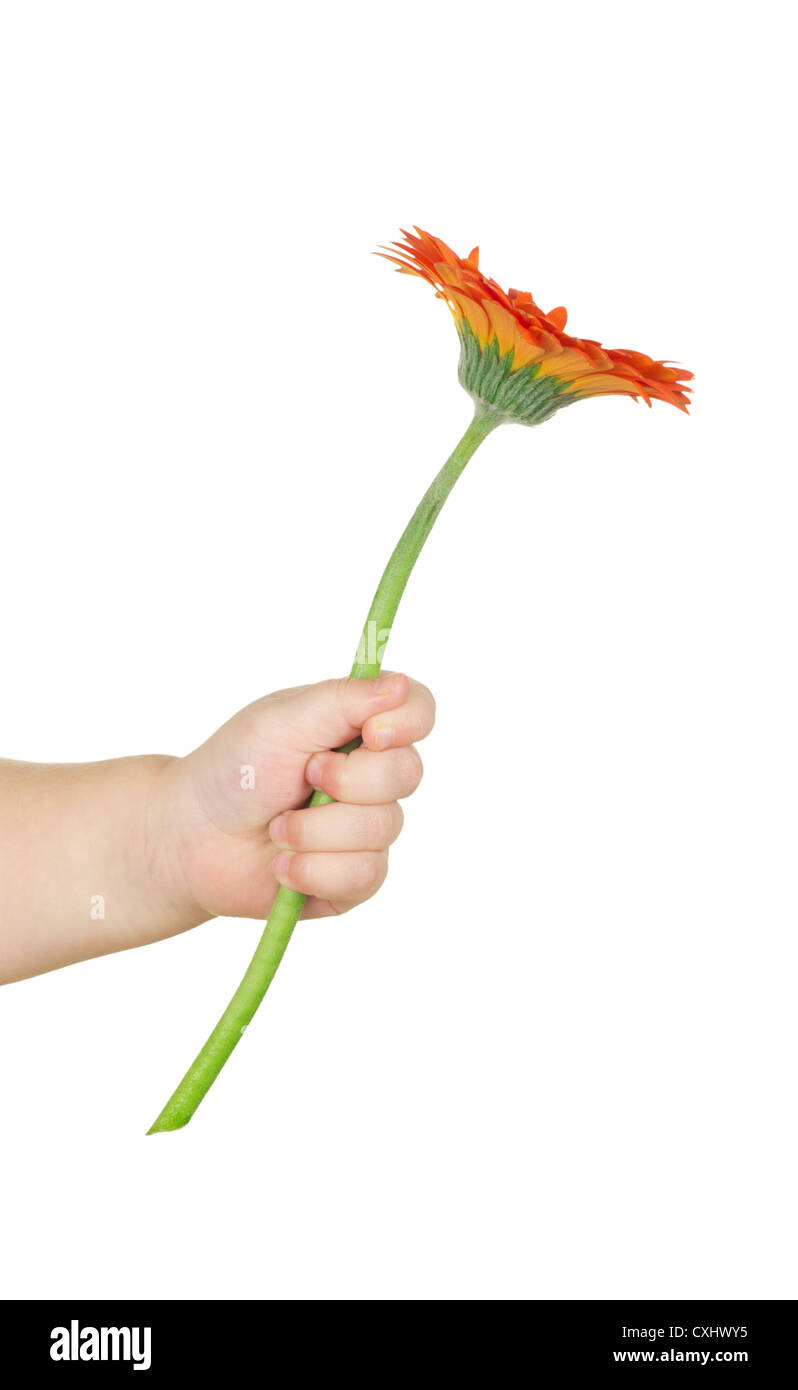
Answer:
[[[548,314],[527,291],[503,291],[480,270],[480,250],[462,260],[446,242],[414,228],[380,254],[420,275],[449,306],[460,335],[460,382],[496,414],[539,424],[587,396],[642,396],[687,411],[692,373],[641,352],[571,338],[560,306]]]

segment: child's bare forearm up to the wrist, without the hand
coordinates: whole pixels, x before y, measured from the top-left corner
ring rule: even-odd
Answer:
[[[170,758],[0,762],[0,984],[174,935]]]

